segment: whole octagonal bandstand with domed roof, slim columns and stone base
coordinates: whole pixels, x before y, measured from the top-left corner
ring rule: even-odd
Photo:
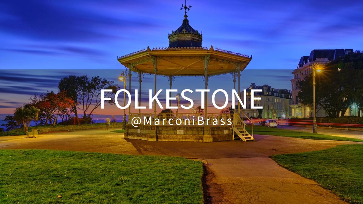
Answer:
[[[233,74],[234,89],[240,93],[241,72],[251,61],[252,57],[230,52],[224,49],[202,46],[203,35],[189,25],[187,10],[189,7],[182,5],[185,15],[182,25],[173,30],[169,35],[169,46],[167,48],[142,49],[125,56],[118,57],[118,61],[128,69],[129,92],[131,93],[131,77],[137,74],[139,79],[139,93],[142,89],[142,78],[144,74],[154,75],[154,93],[157,92],[156,76],[165,76],[170,82],[170,89],[176,77],[201,77],[205,81],[205,89],[208,89],[209,77],[223,74]],[[207,92],[204,93],[204,119],[207,118],[231,118],[232,125],[139,125],[134,127],[126,125],[125,138],[143,139],[152,141],[199,141],[212,142],[222,140],[233,140],[235,135],[243,141],[254,140],[253,133],[245,130],[244,118],[246,115],[240,110],[231,114],[208,113]],[[141,106],[141,94],[139,94],[139,106]],[[171,97],[171,95],[170,95]],[[129,118],[138,116],[151,116],[153,118],[191,118],[193,114],[181,113],[156,113],[156,101],[154,102],[154,113],[131,113]],[[248,119],[248,118],[247,118]]]

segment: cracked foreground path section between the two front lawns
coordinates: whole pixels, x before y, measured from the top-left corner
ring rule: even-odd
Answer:
[[[208,159],[223,203],[345,203],[270,158]]]

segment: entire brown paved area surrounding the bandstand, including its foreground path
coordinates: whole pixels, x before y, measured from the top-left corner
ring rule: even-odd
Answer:
[[[116,154],[170,155],[207,160],[211,182],[223,190],[223,203],[342,203],[314,181],[287,171],[270,155],[306,152],[354,142],[255,135],[256,142],[149,142],[123,134],[87,130],[0,137],[0,149],[52,149]]]

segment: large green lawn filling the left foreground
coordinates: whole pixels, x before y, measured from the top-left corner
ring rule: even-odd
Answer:
[[[0,203],[203,203],[202,174],[179,157],[0,150]]]

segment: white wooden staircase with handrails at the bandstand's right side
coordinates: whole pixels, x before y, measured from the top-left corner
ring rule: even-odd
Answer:
[[[241,119],[240,115],[237,114],[236,112],[234,112],[234,115],[233,115],[233,127],[232,127],[233,140],[241,139],[244,142],[254,141],[254,138],[253,138],[253,126],[254,126],[254,124],[251,121],[251,119],[249,119],[247,117],[247,115],[245,115],[245,113],[243,113],[242,111],[241,111],[241,113],[242,113],[242,119]],[[249,132],[245,128],[246,127],[246,123],[244,122],[245,117],[252,124],[252,135],[249,134]]]

